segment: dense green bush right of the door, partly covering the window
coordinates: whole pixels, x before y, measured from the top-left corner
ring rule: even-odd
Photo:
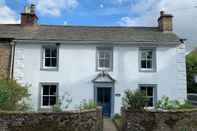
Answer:
[[[127,90],[125,91],[125,95],[122,99],[124,108],[132,110],[144,110],[147,100],[148,99],[144,92],[140,90]]]

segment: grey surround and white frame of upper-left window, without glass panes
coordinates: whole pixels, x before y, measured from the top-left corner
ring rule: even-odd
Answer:
[[[56,49],[57,50],[57,54],[56,57],[45,57],[45,50],[46,48],[50,48],[50,49]],[[52,67],[52,66],[45,66],[45,60],[46,58],[56,58],[56,66]],[[41,62],[41,66],[42,66],[42,70],[58,70],[58,65],[59,65],[59,47],[56,45],[45,45],[42,47],[42,62]]]

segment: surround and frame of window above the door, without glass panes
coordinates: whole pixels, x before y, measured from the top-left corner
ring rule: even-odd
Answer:
[[[113,48],[112,47],[97,47],[96,49],[96,70],[97,71],[112,71],[113,70]],[[100,67],[100,52],[109,53],[109,67]],[[104,55],[105,56],[105,55]],[[102,58],[106,60],[106,58]]]

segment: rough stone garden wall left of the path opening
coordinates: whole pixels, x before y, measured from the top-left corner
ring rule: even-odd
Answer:
[[[0,112],[0,131],[102,131],[100,108],[61,113]]]

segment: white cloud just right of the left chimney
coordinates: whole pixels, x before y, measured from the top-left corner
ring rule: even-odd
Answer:
[[[71,10],[78,6],[77,0],[32,0],[37,5],[41,15],[60,16],[64,10]],[[32,2],[31,1],[31,2]]]

